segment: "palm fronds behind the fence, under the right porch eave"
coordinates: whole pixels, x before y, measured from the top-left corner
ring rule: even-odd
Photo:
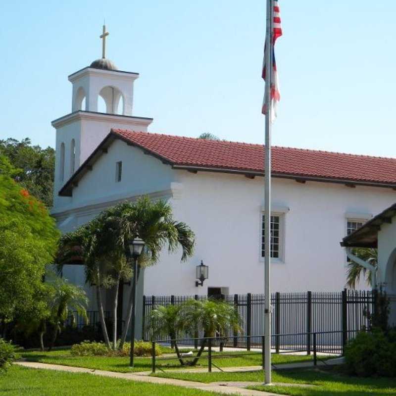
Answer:
[[[364,261],[368,261],[374,267],[378,264],[378,251],[371,247],[356,247],[352,250],[352,253]],[[367,285],[372,285],[372,274],[367,268],[355,263],[354,261],[348,261],[347,263],[347,286],[350,289],[355,289],[359,283],[360,276],[365,278]]]

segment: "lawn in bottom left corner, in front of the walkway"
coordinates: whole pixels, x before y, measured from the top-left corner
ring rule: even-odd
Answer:
[[[0,375],[0,395],[7,396],[219,396],[217,393],[157,385],[92,374],[12,366]]]

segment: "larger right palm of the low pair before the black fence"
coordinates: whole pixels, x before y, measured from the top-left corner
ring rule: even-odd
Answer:
[[[203,330],[203,337],[214,338],[216,333],[224,334],[231,327],[234,332],[241,332],[241,317],[232,304],[219,300],[189,300],[183,310],[183,320],[186,331],[193,335],[198,328]],[[206,346],[206,339],[202,341],[196,358],[191,362],[197,364]]]

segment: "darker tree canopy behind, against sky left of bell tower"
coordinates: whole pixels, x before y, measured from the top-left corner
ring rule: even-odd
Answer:
[[[20,142],[8,138],[0,140],[1,155],[6,158],[0,162],[0,173],[7,163],[12,165],[14,172],[8,175],[47,207],[52,206],[55,150],[32,146],[29,138]]]

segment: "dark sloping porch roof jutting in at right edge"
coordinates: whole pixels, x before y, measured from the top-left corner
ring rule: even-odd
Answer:
[[[384,223],[392,223],[392,218],[396,215],[396,203],[388,207],[371,220],[364,223],[356,231],[347,235],[341,241],[344,247],[377,247],[378,231]]]

